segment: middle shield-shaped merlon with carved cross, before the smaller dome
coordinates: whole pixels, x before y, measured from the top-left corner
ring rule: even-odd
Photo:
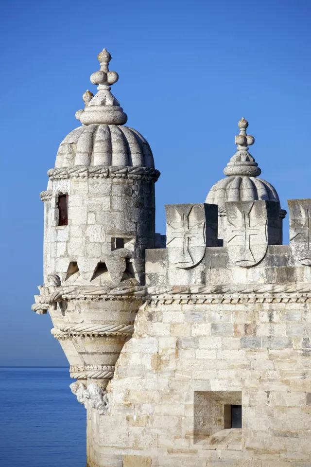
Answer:
[[[231,201],[227,213],[226,242],[232,265],[250,267],[265,256],[279,237],[279,204],[273,201]]]

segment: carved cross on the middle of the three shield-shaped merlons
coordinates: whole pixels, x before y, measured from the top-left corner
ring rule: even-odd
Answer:
[[[256,263],[257,261],[251,250],[251,245],[253,243],[252,237],[260,235],[262,232],[262,229],[259,228],[260,222],[256,223],[254,226],[251,225],[249,213],[250,211],[245,211],[245,210],[241,211],[241,214],[242,214],[241,227],[239,225],[229,222],[231,225],[237,228],[231,230],[232,236],[231,238],[227,240],[227,243],[230,243],[236,237],[241,237],[240,241],[238,243],[235,243],[234,245],[234,246],[242,247],[241,248],[242,250],[241,259],[237,259],[236,263],[239,263],[240,261],[250,261],[250,262]],[[266,221],[266,225],[267,225],[267,221]]]

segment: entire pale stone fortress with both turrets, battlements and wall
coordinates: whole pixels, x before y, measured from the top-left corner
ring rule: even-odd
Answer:
[[[88,467],[311,466],[311,199],[289,204],[254,138],[206,203],[155,235],[149,145],[110,93],[110,55],[60,145],[45,204],[49,311],[87,410]],[[157,248],[155,248],[157,247]]]

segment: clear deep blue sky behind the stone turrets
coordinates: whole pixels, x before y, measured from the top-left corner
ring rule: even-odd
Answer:
[[[10,0],[0,13],[0,365],[67,364],[49,316],[31,311],[39,193],[104,47],[120,76],[113,93],[162,173],[157,232],[164,204],[204,202],[224,177],[242,116],[282,207],[311,198],[310,0]]]

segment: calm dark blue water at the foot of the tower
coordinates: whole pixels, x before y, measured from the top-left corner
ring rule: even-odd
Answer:
[[[85,467],[86,410],[68,368],[0,368],[0,466]]]

